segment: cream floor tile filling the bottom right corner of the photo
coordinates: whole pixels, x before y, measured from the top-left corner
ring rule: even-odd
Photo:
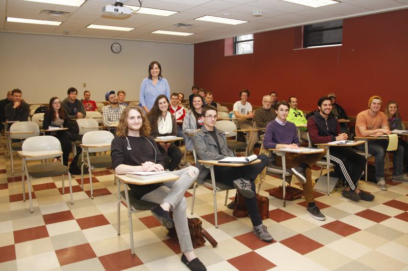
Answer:
[[[377,251],[371,251],[357,260],[375,270],[400,270],[406,266],[403,262],[388,257],[387,255]]]

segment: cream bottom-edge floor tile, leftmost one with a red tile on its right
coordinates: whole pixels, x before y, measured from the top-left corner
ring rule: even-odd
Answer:
[[[60,264],[54,251],[17,259],[18,270],[42,271],[59,266]]]

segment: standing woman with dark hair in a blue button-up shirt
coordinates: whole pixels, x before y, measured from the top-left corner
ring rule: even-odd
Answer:
[[[166,95],[170,100],[170,86],[162,77],[162,66],[157,61],[149,65],[149,77],[144,78],[140,85],[139,106],[144,112],[149,113],[159,95]]]

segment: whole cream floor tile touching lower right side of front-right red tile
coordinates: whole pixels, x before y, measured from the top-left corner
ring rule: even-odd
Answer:
[[[351,261],[351,259],[345,255],[327,247],[321,247],[304,256],[330,270],[337,269]]]

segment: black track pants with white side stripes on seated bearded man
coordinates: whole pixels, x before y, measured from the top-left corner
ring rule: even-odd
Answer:
[[[330,162],[338,165],[347,185],[355,190],[366,168],[366,158],[348,147],[331,147]]]

